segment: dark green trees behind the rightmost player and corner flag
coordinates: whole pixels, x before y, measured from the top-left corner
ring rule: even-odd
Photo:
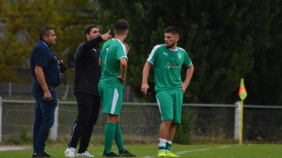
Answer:
[[[246,104],[282,103],[280,0],[99,2],[103,25],[117,19],[130,24],[127,81],[138,97],[143,97],[142,67],[154,45],[163,43],[163,30],[173,25],[181,29],[177,45],[186,49],[195,66],[184,102],[234,104],[239,81],[245,78]]]

